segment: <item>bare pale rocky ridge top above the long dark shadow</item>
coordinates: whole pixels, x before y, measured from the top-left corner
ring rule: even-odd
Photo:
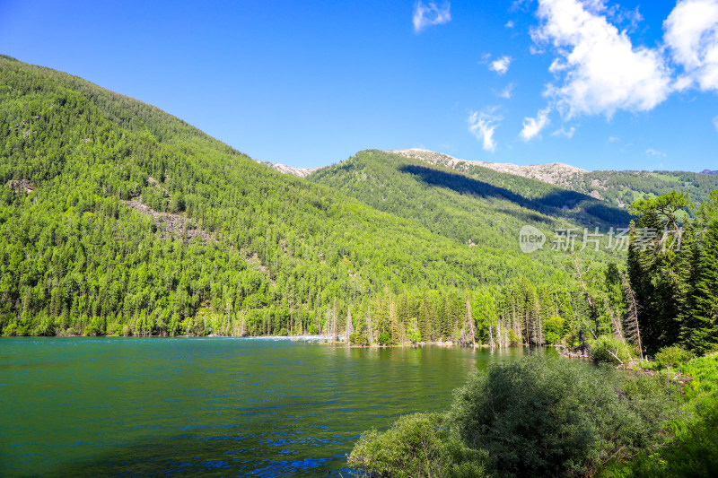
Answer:
[[[532,164],[529,166],[519,166],[508,162],[486,162],[486,161],[467,161],[454,158],[442,152],[433,152],[421,148],[409,148],[406,150],[390,150],[395,154],[414,158],[420,161],[426,161],[438,166],[444,166],[450,169],[465,170],[472,166],[481,166],[483,168],[494,169],[498,172],[505,172],[523,178],[533,178],[548,184],[558,186],[567,186],[568,179],[575,175],[583,175],[588,173],[586,169],[576,168],[563,162],[551,162],[548,164]]]

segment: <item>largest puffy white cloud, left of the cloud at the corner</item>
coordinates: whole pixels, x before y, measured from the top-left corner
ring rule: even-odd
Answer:
[[[551,71],[559,84],[548,84],[545,94],[566,117],[644,111],[667,98],[670,72],[660,50],[635,48],[602,14],[601,0],[538,3],[541,24],[531,35],[557,55]]]

